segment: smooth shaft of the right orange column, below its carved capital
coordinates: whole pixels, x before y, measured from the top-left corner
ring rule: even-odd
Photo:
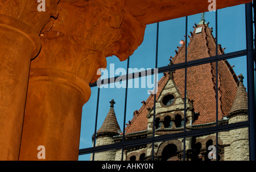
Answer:
[[[56,69],[31,69],[22,148],[19,160],[77,160],[82,106],[90,87],[75,74]]]

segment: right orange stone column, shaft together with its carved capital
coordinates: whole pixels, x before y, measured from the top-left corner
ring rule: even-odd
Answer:
[[[78,160],[82,106],[106,57],[126,60],[142,43],[145,26],[125,1],[60,1],[59,17],[41,34],[32,60],[19,160]],[[90,118],[90,116],[88,116]],[[45,159],[38,159],[38,146]]]

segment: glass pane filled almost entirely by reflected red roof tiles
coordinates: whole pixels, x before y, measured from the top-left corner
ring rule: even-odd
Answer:
[[[191,129],[216,125],[215,74],[215,62],[187,69],[187,111],[191,114]]]

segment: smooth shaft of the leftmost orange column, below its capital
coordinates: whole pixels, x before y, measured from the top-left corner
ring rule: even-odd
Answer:
[[[31,27],[0,14],[0,160],[18,160],[30,61],[40,46]]]

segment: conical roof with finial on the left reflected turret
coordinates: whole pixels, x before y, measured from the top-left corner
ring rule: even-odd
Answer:
[[[102,126],[98,129],[97,133],[105,133],[105,132],[112,132],[112,133],[121,133],[121,129],[118,125],[117,118],[115,116],[114,111],[114,100],[112,99],[110,103],[110,110],[108,115],[106,116]]]

